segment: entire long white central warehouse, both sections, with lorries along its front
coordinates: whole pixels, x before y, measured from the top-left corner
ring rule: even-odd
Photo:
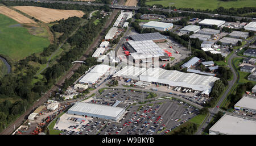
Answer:
[[[134,71],[142,72],[133,74]],[[146,70],[146,71],[144,71]],[[123,76],[125,78],[134,78],[134,80],[151,82],[164,86],[180,86],[196,91],[204,91],[209,95],[212,86],[219,78],[213,76],[202,76],[196,73],[183,73],[177,70],[165,70],[162,68],[138,69],[135,67],[125,67],[115,73],[113,77]]]

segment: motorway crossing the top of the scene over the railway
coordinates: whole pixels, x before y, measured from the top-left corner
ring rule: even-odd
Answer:
[[[16,0],[5,0],[5,1],[16,1]],[[19,1],[31,1],[31,0],[19,0]],[[34,1],[36,2],[36,1]],[[88,2],[69,2],[69,1],[48,1],[48,0],[40,0],[40,2],[43,3],[64,3],[64,4],[78,4],[78,5],[87,5],[87,6],[104,6],[106,4],[103,3],[88,3]],[[138,10],[139,6],[121,6],[121,5],[109,5],[109,7],[111,9],[122,9],[122,10]],[[142,7],[142,8],[146,8],[146,9],[151,9],[150,7]],[[169,12],[169,9],[154,9],[155,11],[164,11],[164,12]],[[216,17],[216,16],[222,16],[222,17],[232,17],[232,18],[236,18],[238,20],[243,19],[243,18],[247,18],[247,19],[252,19],[254,21],[253,18],[249,18],[249,17],[241,17],[241,16],[232,16],[232,15],[215,15],[215,14],[211,14],[211,13],[207,13],[207,12],[196,12],[196,11],[184,11],[184,10],[171,10],[171,12],[188,12],[188,13],[199,13],[199,14],[206,14],[209,15],[211,17]]]

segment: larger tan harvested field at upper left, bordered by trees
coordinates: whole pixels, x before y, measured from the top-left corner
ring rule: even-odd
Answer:
[[[82,17],[82,15],[84,15],[84,12],[78,10],[56,10],[34,6],[15,6],[14,8],[30,16],[34,16],[36,19],[45,23],[60,19],[67,19],[72,16]]]

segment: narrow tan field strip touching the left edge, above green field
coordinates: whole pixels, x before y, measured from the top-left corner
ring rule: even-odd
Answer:
[[[36,23],[34,22],[34,20],[27,18],[26,16],[19,14],[19,12],[11,10],[5,6],[0,6],[0,13],[3,15],[9,16],[10,18],[16,20],[16,22],[19,22],[19,23]]]

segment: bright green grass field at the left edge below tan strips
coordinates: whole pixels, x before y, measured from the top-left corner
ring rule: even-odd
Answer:
[[[49,45],[46,37],[31,35],[27,28],[18,25],[15,20],[0,14],[0,54],[14,61],[24,59],[32,53],[40,53]]]

